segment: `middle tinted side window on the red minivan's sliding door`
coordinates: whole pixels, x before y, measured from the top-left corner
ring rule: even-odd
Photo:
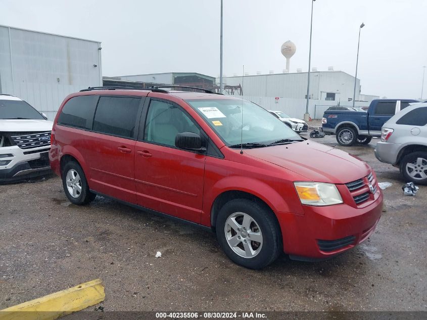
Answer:
[[[140,98],[101,97],[93,131],[133,138]]]

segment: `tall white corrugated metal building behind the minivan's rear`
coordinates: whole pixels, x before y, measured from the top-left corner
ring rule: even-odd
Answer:
[[[53,120],[67,95],[100,85],[101,42],[0,25],[0,93]]]

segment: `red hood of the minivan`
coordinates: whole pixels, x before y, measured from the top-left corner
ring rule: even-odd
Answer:
[[[245,152],[294,171],[308,181],[345,184],[370,172],[370,167],[365,162],[347,152],[311,141],[247,149]]]

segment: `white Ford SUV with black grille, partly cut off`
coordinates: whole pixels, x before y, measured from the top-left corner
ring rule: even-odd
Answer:
[[[53,122],[25,101],[0,94],[0,183],[51,170]]]

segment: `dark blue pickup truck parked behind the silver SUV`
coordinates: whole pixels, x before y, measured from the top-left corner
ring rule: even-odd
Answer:
[[[372,100],[365,111],[325,111],[322,118],[322,129],[326,134],[336,134],[341,146],[352,146],[355,143],[367,145],[372,136],[381,136],[381,127],[400,110],[410,103],[411,99],[376,99]]]

